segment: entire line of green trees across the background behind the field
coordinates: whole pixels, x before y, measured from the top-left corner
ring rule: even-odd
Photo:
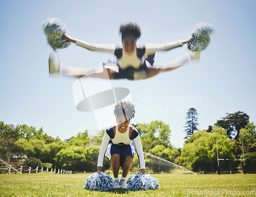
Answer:
[[[191,113],[193,112],[193,113]],[[193,115],[193,119],[189,115]],[[134,124],[139,130],[143,151],[159,158],[174,162],[194,171],[216,171],[217,146],[221,170],[238,170],[242,167],[242,149],[247,171],[256,171],[256,129],[243,112],[227,114],[215,125],[198,130],[198,113],[189,109],[185,124],[186,141],[182,148],[170,143],[171,130],[162,121]],[[189,131],[189,132],[188,132]],[[14,128],[0,121],[0,158],[18,162],[26,156],[24,165],[32,168],[49,167],[72,171],[95,171],[104,130],[90,136],[88,130],[65,141],[48,136],[42,128],[17,125]],[[243,141],[242,141],[243,137]],[[243,146],[242,146],[243,144]],[[232,160],[232,161],[230,161]],[[234,161],[233,161],[234,160]],[[169,171],[166,163],[145,155],[146,171]],[[102,170],[110,170],[110,160],[104,159]],[[139,171],[138,157],[135,156],[132,171]]]

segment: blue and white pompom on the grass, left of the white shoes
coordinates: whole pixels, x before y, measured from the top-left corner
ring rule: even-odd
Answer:
[[[94,191],[109,191],[113,189],[113,186],[114,181],[109,174],[95,172],[87,178],[86,185],[83,188]]]

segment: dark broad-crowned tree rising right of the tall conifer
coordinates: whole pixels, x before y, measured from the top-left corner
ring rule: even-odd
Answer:
[[[229,139],[235,139],[238,141],[239,132],[241,128],[244,128],[249,122],[249,116],[244,112],[235,112],[228,114],[226,117],[217,121],[217,125],[227,130],[227,136]]]

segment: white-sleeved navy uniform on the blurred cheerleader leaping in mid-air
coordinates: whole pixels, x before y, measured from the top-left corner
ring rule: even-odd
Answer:
[[[95,44],[76,39],[76,45],[92,50],[112,53],[117,61],[103,63],[105,69],[112,70],[115,79],[137,80],[140,75],[146,75],[147,69],[153,68],[156,51],[167,51],[182,47],[182,40],[162,44],[145,43],[144,47],[136,46],[132,54],[127,54],[123,48],[115,44]]]

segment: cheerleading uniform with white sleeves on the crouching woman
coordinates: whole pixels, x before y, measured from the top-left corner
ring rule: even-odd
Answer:
[[[103,166],[104,156],[111,159],[112,155],[119,154],[120,166],[122,167],[126,156],[133,158],[137,151],[140,169],[145,169],[145,160],[139,132],[134,128],[131,137],[129,137],[129,130],[130,126],[127,127],[125,133],[120,133],[118,131],[118,125],[116,125],[116,134],[114,136],[114,130],[111,126],[106,129],[101,142],[97,166]]]

